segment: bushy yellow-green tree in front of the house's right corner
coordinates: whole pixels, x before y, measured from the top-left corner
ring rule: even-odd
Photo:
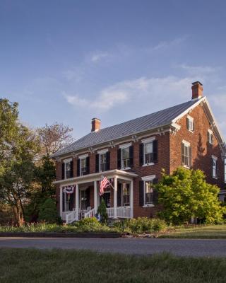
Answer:
[[[184,224],[191,217],[205,223],[222,221],[224,209],[218,200],[219,188],[206,183],[201,170],[180,167],[172,175],[162,173],[157,191],[163,208],[159,215],[168,223]]]

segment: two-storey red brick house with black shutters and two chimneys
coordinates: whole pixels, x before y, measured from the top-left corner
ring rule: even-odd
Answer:
[[[91,132],[66,146],[56,161],[57,209],[70,223],[94,216],[100,204],[102,175],[112,181],[102,197],[112,218],[154,216],[153,184],[161,170],[200,168],[208,183],[225,197],[226,146],[200,82],[186,103],[101,129],[93,118]],[[71,192],[71,193],[68,193]]]

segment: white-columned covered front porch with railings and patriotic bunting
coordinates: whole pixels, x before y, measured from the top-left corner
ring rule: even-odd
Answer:
[[[116,169],[56,181],[55,184],[60,184],[61,219],[71,223],[97,214],[101,201],[102,175],[112,183],[112,187],[105,188],[105,193],[101,196],[105,200],[108,217],[133,218],[133,178],[136,178],[137,174]],[[65,187],[69,186],[73,188],[73,193],[64,192]]]

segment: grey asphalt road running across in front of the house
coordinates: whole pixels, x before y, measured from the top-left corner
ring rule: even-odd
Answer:
[[[226,256],[226,240],[150,238],[0,238],[0,248],[63,248],[100,253],[150,255],[168,252],[182,256]]]

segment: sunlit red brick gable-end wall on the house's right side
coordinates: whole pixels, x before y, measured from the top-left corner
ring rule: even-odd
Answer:
[[[210,124],[201,105],[198,105],[189,116],[194,118],[194,133],[186,129],[186,115],[177,124],[181,129],[177,134],[170,134],[170,173],[182,165],[181,144],[182,140],[191,144],[192,167],[201,169],[206,173],[208,183],[224,187],[224,164],[221,158],[220,146],[214,136],[213,145],[208,143],[208,129]],[[212,158],[218,157],[218,179],[212,178]]]

